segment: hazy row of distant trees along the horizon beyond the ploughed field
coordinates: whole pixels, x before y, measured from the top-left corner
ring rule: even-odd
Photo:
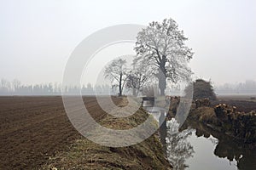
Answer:
[[[0,82],[0,95],[61,95],[61,92],[65,94],[77,94],[78,91],[84,95],[95,94],[116,94],[116,89],[108,85],[96,85],[92,86],[88,83],[82,87],[69,86],[62,87],[61,83],[43,83],[34,85],[22,84],[19,80],[15,79],[11,82],[5,79],[1,79]]]

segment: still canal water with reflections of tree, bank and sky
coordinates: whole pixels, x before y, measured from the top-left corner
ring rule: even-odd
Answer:
[[[160,112],[151,113],[160,122]],[[163,122],[161,141],[175,170],[255,170],[256,150],[237,144],[223,133],[198,122],[183,127],[175,119]]]

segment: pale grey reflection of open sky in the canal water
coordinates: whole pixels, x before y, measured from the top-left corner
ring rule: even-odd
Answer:
[[[213,139],[213,142],[212,142]],[[218,139],[215,139],[218,140]],[[210,136],[210,139],[205,137],[197,137],[195,132],[189,137],[189,142],[195,150],[193,157],[186,160],[186,164],[189,165],[188,170],[230,170],[237,169],[236,161],[229,161],[225,158],[219,158],[214,155],[215,147],[218,143],[214,144],[214,138]]]

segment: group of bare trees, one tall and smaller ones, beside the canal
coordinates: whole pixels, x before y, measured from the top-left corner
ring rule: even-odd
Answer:
[[[138,32],[132,68],[127,67],[125,59],[114,59],[106,67],[105,77],[119,87],[119,95],[125,87],[137,95],[154,79],[158,81],[160,95],[165,95],[167,82],[190,78],[188,63],[193,53],[184,44],[187,39],[174,20],[153,21]]]

